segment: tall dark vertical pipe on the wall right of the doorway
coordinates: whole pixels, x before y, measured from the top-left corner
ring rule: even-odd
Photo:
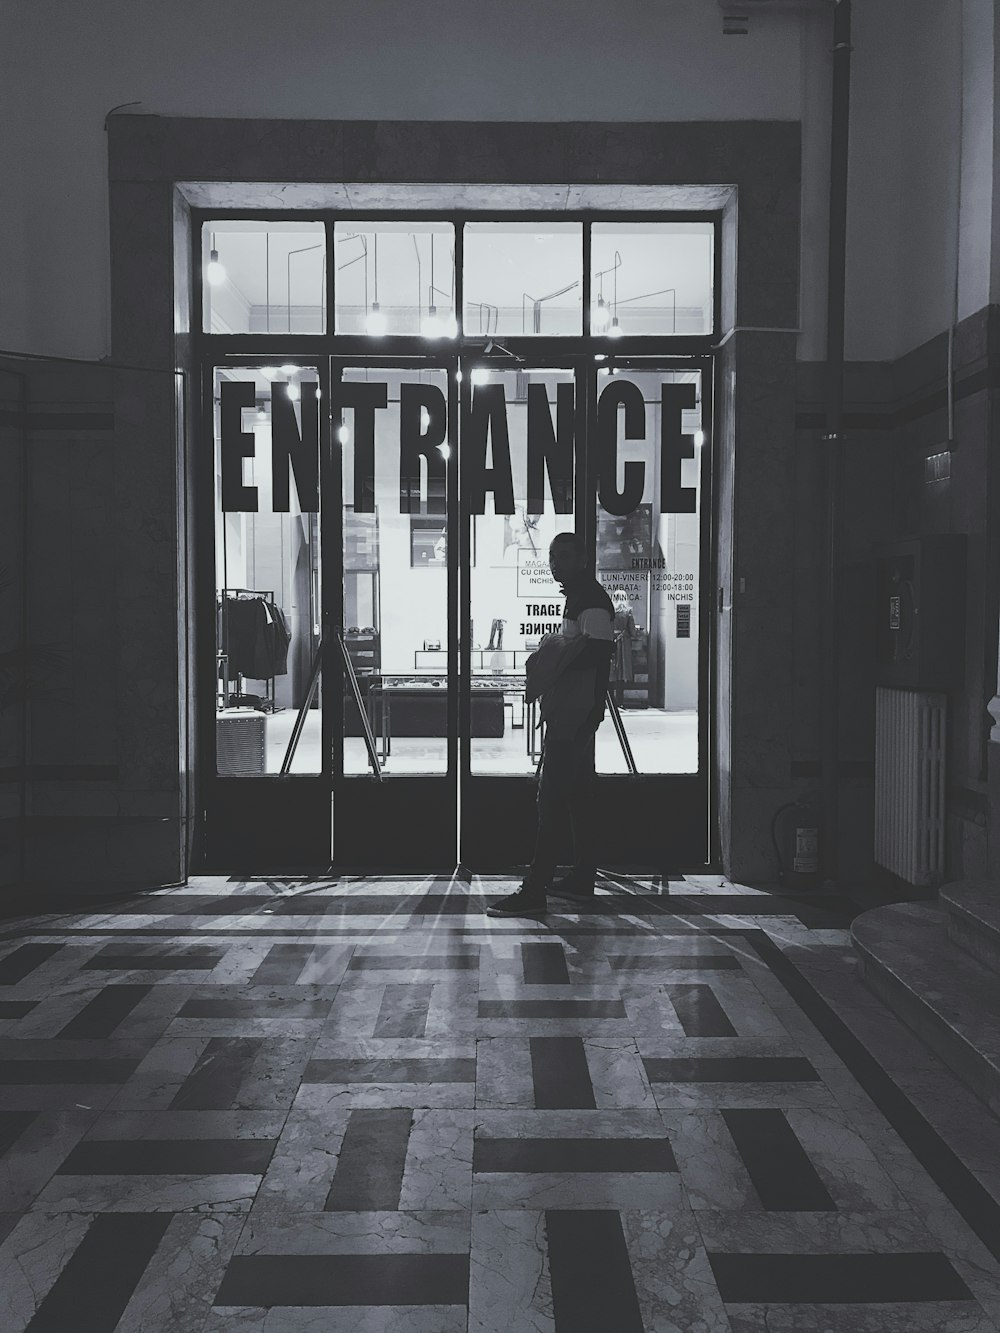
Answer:
[[[837,627],[840,620],[839,547],[844,443],[844,305],[847,273],[847,169],[851,119],[851,0],[837,0],[833,11],[833,104],[829,151],[829,252],[827,267],[827,423],[823,435],[825,499],[823,549],[821,660],[821,869],[827,882],[837,877],[840,820],[840,673]]]

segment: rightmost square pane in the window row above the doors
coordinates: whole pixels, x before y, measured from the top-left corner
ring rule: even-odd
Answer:
[[[595,223],[591,331],[711,333],[713,244],[711,223]]]

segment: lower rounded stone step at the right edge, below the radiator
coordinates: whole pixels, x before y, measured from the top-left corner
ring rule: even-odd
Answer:
[[[1000,980],[948,934],[937,902],[896,902],[855,917],[868,986],[1000,1114]]]

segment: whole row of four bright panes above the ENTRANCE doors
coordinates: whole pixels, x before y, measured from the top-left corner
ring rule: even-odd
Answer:
[[[215,335],[608,340],[716,332],[712,217],[205,219]]]

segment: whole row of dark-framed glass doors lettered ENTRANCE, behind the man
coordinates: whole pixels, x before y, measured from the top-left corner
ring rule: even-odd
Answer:
[[[708,860],[705,365],[509,360],[215,371],[216,864],[527,862],[563,532],[615,607],[599,857]]]

